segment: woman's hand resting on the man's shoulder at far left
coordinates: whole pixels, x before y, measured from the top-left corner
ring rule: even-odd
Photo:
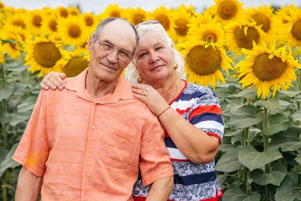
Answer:
[[[48,90],[49,88],[53,90],[55,90],[56,88],[62,90],[65,87],[65,82],[63,81],[63,79],[65,78],[65,73],[51,71],[43,78],[40,83],[40,87],[45,90]]]

